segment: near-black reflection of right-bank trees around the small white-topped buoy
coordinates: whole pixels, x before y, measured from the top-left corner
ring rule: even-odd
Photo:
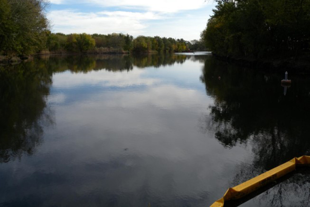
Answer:
[[[310,84],[294,74],[284,96],[281,78],[214,58],[205,62],[200,79],[214,98],[205,130],[214,130],[224,147],[250,145],[253,152],[252,163],[237,166],[231,186],[310,153]],[[306,205],[309,196],[309,173],[298,173],[265,191],[256,205]]]

